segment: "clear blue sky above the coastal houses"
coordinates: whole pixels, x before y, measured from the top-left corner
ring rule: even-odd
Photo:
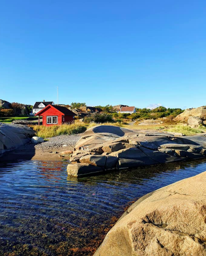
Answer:
[[[0,99],[206,105],[205,0],[0,0]]]

